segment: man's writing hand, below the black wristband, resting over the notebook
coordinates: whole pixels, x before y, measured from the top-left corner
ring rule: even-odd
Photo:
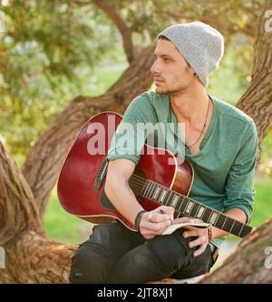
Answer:
[[[171,206],[158,206],[141,216],[140,232],[146,239],[160,235],[169,227],[174,219],[174,208]]]

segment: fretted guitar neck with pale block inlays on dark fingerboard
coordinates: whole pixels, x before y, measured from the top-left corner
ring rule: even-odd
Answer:
[[[151,180],[145,181],[140,195],[160,205],[172,206],[182,216],[202,219],[204,222],[238,237],[245,237],[252,231],[252,227],[247,224]]]

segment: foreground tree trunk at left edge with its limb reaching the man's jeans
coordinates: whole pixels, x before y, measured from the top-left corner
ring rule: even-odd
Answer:
[[[5,248],[0,283],[67,282],[76,248],[45,237],[33,193],[1,141],[0,247]]]

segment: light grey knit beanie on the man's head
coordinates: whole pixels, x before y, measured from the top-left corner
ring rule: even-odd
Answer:
[[[167,37],[180,51],[207,87],[209,75],[218,68],[224,53],[224,37],[219,31],[202,22],[171,25],[160,35]]]

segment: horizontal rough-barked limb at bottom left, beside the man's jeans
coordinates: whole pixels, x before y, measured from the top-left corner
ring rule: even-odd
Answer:
[[[5,245],[0,283],[68,283],[77,245],[63,245],[28,231]]]

